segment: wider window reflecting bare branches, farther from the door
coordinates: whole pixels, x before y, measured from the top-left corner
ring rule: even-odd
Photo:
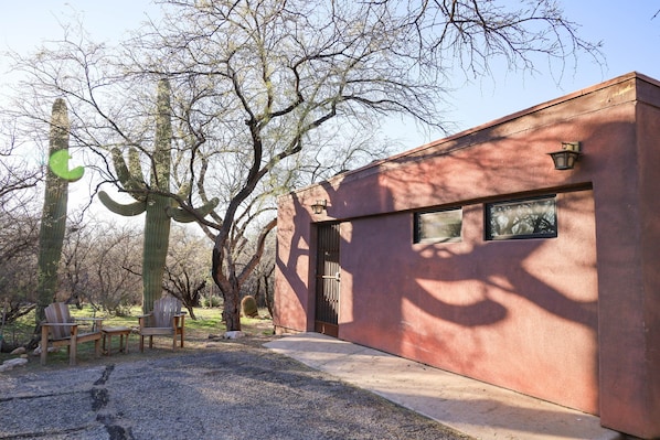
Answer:
[[[555,195],[486,205],[487,240],[554,238],[556,236]]]

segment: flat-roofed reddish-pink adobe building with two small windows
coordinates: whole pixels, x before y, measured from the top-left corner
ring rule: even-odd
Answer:
[[[285,195],[276,328],[660,437],[659,142],[631,73]]]

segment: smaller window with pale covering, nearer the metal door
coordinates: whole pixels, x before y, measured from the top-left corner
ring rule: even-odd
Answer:
[[[462,208],[415,214],[415,243],[460,242]]]

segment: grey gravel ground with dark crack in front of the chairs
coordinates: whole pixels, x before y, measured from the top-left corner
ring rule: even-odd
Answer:
[[[0,439],[469,439],[260,346],[0,374]]]

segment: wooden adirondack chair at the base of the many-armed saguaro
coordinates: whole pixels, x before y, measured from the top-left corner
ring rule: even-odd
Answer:
[[[167,297],[153,301],[153,311],[138,316],[140,324],[140,352],[145,351],[145,336],[149,336],[149,348],[153,347],[153,336],[172,336],[172,350],[177,350],[177,335],[181,335],[183,347],[185,312],[181,312],[181,301]]]

